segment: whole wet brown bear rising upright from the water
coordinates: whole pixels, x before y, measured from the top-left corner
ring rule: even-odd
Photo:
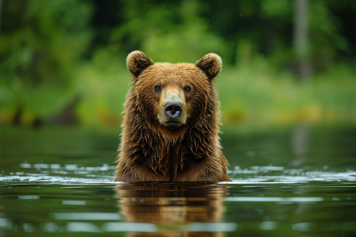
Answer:
[[[127,55],[133,84],[124,103],[115,181],[231,181],[219,141],[214,78],[222,61],[153,63]]]

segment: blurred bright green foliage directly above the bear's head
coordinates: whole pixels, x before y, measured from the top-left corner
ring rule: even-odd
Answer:
[[[208,21],[198,15],[197,1],[125,3],[124,24],[111,36],[111,42],[124,52],[122,47],[139,45],[154,61],[172,63],[195,62],[207,52],[228,54],[224,39],[211,32]],[[127,39],[131,45],[125,43]]]

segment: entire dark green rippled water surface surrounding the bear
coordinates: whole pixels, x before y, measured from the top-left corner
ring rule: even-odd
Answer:
[[[356,236],[356,129],[221,136],[233,182],[113,182],[118,131],[0,128],[0,236]]]

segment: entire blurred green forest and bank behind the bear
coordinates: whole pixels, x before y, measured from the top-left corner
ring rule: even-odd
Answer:
[[[356,3],[0,0],[0,124],[119,128],[126,55],[217,53],[226,126],[355,124]]]

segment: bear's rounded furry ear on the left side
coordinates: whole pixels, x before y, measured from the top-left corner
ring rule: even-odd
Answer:
[[[132,51],[127,55],[126,66],[133,76],[138,76],[143,70],[153,65],[152,59],[148,58],[146,54],[141,51]]]

